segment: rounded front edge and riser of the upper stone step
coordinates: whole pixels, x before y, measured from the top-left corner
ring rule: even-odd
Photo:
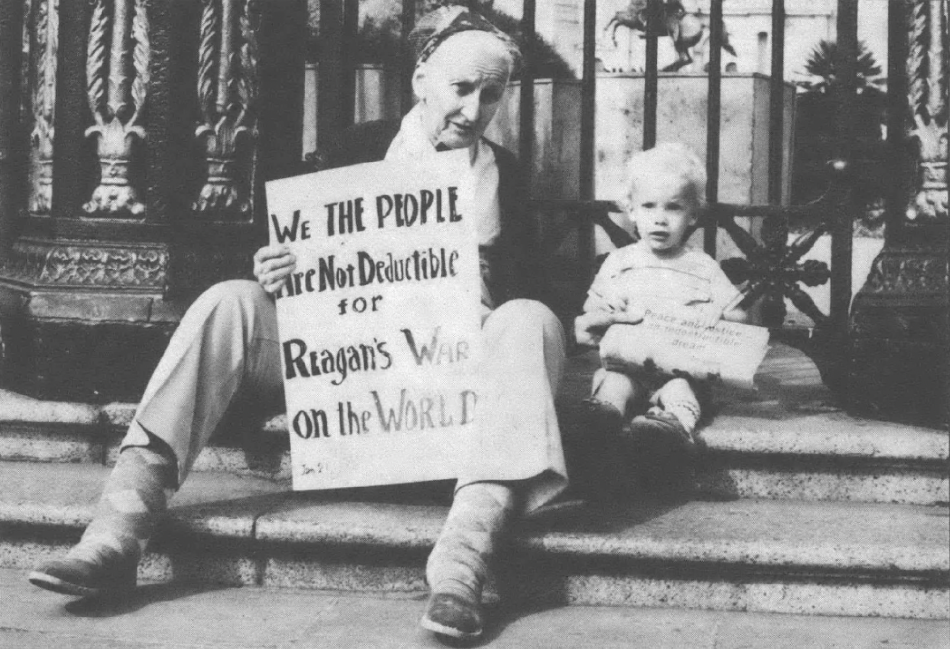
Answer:
[[[14,407],[7,407],[11,401]],[[131,404],[45,402],[0,392],[0,460],[111,465],[122,438],[119,424],[127,424],[133,412]],[[253,448],[235,446],[238,435],[213,438],[194,471],[289,479],[284,422],[282,415],[271,417],[260,435],[245,437]],[[699,437],[696,493],[723,499],[950,502],[945,458],[950,437],[940,431],[828,412],[792,421],[717,417]]]

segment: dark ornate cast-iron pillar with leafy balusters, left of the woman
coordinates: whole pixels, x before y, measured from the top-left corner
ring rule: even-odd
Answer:
[[[306,0],[13,7],[0,383],[137,400],[186,307],[266,240],[263,180],[299,159]]]

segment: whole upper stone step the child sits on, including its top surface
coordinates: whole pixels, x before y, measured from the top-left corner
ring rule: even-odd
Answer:
[[[580,420],[571,415],[586,397],[597,362],[596,354],[569,360],[559,396],[565,425]],[[723,499],[950,501],[947,432],[847,416],[814,364],[784,345],[769,351],[756,381],[756,393],[720,396],[712,421],[701,428],[696,493]],[[0,391],[0,459],[110,465],[134,411],[130,403],[41,401]],[[196,471],[289,477],[284,416],[258,430],[225,432],[200,454]]]

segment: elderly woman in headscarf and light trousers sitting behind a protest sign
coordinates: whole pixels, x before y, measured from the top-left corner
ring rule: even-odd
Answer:
[[[564,357],[561,325],[540,302],[540,273],[514,157],[483,137],[519,53],[503,32],[465,9],[437,9],[410,35],[418,102],[401,123],[371,122],[341,134],[332,165],[417,159],[465,148],[463,213],[478,218],[483,268],[487,395],[480,435],[459,476],[446,526],[428,559],[431,597],[422,625],[472,639],[482,633],[487,566],[513,514],[566,484],[554,394]],[[62,561],[29,575],[70,595],[134,586],[136,566],[166,500],[229,409],[282,400],[274,295],[295,269],[285,248],[257,250],[257,283],[208,289],[181,320],[150,380],[93,521]],[[521,298],[521,299],[519,299]],[[533,448],[528,448],[533,445]],[[526,451],[532,451],[527,453]],[[540,460],[524,458],[541,457]]]

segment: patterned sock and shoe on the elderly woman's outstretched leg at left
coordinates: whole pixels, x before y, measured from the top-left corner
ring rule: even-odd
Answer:
[[[30,584],[64,595],[123,593],[136,584],[142,551],[175,484],[171,451],[125,449],[105,483],[83,538],[61,560],[29,573]]]

